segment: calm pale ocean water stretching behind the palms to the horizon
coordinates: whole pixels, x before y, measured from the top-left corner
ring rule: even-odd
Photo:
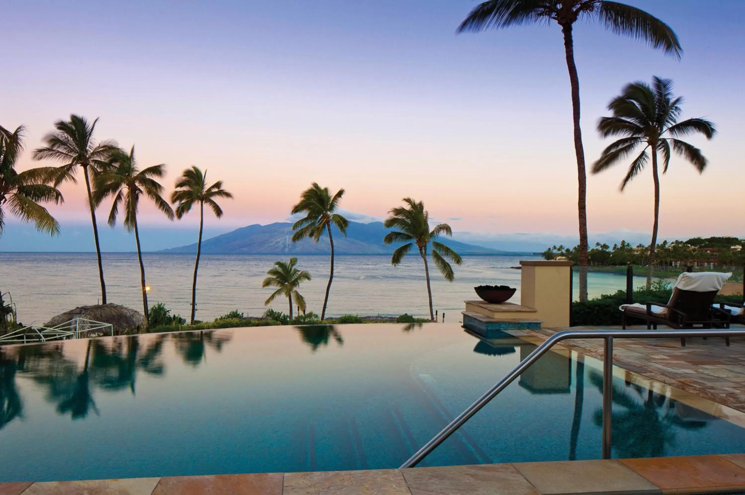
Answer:
[[[163,302],[174,313],[188,315],[191,304],[193,255],[143,255],[150,304]],[[212,320],[231,310],[259,316],[270,289],[261,281],[273,262],[282,255],[204,255],[197,282],[197,319]],[[329,275],[329,257],[300,255],[299,268],[313,275],[300,288],[308,310],[320,313]],[[434,307],[446,319],[460,318],[463,301],[476,298],[473,287],[481,284],[520,286],[519,266],[526,256],[472,256],[455,267],[455,281],[448,283],[431,273]],[[133,253],[104,254],[104,275],[110,302],[141,310],[139,266]],[[575,274],[576,278],[576,274]],[[636,284],[644,283],[637,278]],[[577,283],[575,280],[575,289]],[[622,275],[590,273],[590,296],[613,293],[626,287]],[[2,253],[0,290],[10,291],[18,307],[19,321],[42,324],[51,316],[83,304],[96,304],[101,297],[95,253]],[[519,301],[519,289],[512,301]],[[576,294],[575,294],[576,297]],[[287,300],[271,304],[287,313]],[[329,298],[330,315],[428,316],[427,289],[422,261],[413,256],[401,266],[391,266],[389,256],[338,256]]]

